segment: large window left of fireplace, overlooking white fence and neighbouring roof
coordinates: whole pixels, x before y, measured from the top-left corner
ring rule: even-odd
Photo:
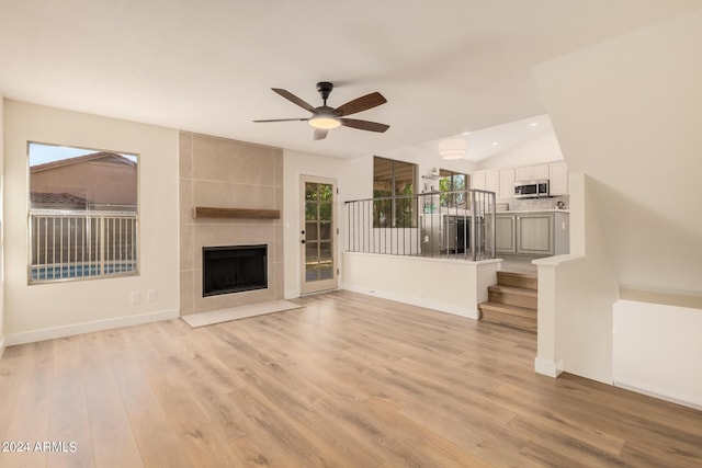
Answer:
[[[138,274],[138,156],[27,144],[30,284]]]

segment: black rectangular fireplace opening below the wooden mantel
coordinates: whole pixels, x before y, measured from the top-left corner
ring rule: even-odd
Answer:
[[[267,246],[203,247],[203,297],[265,289],[267,256]]]

